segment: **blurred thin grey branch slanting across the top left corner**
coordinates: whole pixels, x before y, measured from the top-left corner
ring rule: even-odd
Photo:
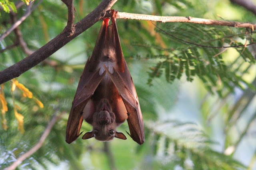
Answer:
[[[0,41],[2,41],[7,35],[9,35],[16,27],[18,27],[18,25],[20,25],[41,2],[42,0],[40,0],[32,8],[32,1],[30,1],[30,4],[26,8],[25,14],[20,19],[18,19],[9,29],[7,29],[2,35],[0,35]]]

